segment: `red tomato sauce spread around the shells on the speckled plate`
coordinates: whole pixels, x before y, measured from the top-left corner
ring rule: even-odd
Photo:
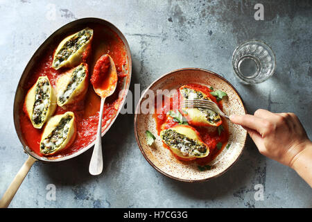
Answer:
[[[210,94],[212,92],[211,89],[208,87],[205,87],[203,85],[198,84],[187,84],[187,86],[192,87],[193,89],[200,89],[200,91],[204,92],[209,96],[209,99],[214,101],[218,107],[223,110],[222,101],[216,101],[216,98]],[[153,114],[153,117],[156,121],[156,128],[158,135],[160,134],[160,131],[172,128],[173,126],[177,126],[179,123],[173,120],[173,117],[170,117],[168,114],[168,110],[174,110],[174,108],[179,108],[180,113],[182,113],[182,110],[180,109],[180,95],[178,93],[171,95],[170,98],[165,98],[166,96],[162,95],[162,103],[157,103],[157,97],[155,98],[155,114]],[[168,101],[167,103],[165,101]],[[178,103],[178,105],[176,104]],[[168,148],[171,153],[177,158],[177,160],[181,160],[185,163],[187,162],[197,162],[200,165],[206,165],[212,160],[214,160],[218,154],[223,151],[223,148],[227,145],[228,139],[229,139],[229,130],[227,128],[227,124],[225,122],[225,119],[221,117],[222,123],[220,125],[223,126],[223,130],[220,131],[220,135],[218,132],[218,128],[216,126],[209,126],[209,127],[202,127],[202,126],[192,126],[191,123],[189,123],[189,126],[195,128],[197,133],[200,135],[200,139],[202,139],[202,142],[207,144],[209,146],[209,155],[207,157],[202,158],[182,158],[178,157],[171,151],[171,149],[163,143],[165,148]],[[217,148],[217,144],[221,142],[222,146],[221,148]]]

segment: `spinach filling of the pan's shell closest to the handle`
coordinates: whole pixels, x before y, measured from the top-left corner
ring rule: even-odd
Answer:
[[[60,120],[58,126],[56,126],[50,135],[41,142],[41,153],[53,153],[53,151],[55,151],[55,149],[58,148],[65,141],[65,139],[67,139],[69,132],[69,121],[71,121],[72,118],[73,117],[68,115]]]

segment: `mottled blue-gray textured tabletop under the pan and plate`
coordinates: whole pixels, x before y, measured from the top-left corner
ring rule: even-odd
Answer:
[[[65,3],[66,2],[66,3]],[[0,1],[0,195],[26,160],[15,133],[12,105],[24,67],[46,37],[83,17],[115,24],[132,50],[134,83],[141,89],[182,67],[200,67],[229,80],[248,112],[295,112],[312,133],[311,1]],[[55,17],[53,17],[55,10]],[[259,85],[242,85],[232,72],[237,44],[256,38],[276,53],[277,70]],[[120,139],[122,138],[122,139]],[[312,207],[309,185],[288,167],[261,156],[249,140],[232,169],[200,184],[171,180],[141,155],[133,114],[120,115],[103,139],[104,170],[88,173],[91,150],[57,164],[37,162],[10,207]],[[46,199],[46,185],[56,200]],[[254,185],[264,200],[254,199]]]

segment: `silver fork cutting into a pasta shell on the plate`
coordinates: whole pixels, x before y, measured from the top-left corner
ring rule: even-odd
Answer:
[[[182,101],[182,108],[203,108],[212,110],[221,116],[229,119],[229,117],[220,110],[218,105],[214,103],[213,101],[205,100],[205,99],[186,99]]]

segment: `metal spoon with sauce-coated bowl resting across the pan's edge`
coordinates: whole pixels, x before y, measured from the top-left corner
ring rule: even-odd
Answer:
[[[102,137],[101,137],[103,108],[105,99],[114,93],[118,79],[116,67],[112,58],[109,55],[105,54],[101,56],[99,60],[101,60],[104,56],[108,56],[108,58],[110,59],[110,68],[106,73],[107,77],[105,78],[105,81],[107,81],[107,83],[102,84],[103,87],[94,87],[94,91],[96,92],[96,94],[98,94],[98,96],[101,96],[101,108],[98,118],[98,130],[96,133],[96,142],[94,144],[94,150],[89,164],[89,173],[92,175],[98,175],[103,171]]]

